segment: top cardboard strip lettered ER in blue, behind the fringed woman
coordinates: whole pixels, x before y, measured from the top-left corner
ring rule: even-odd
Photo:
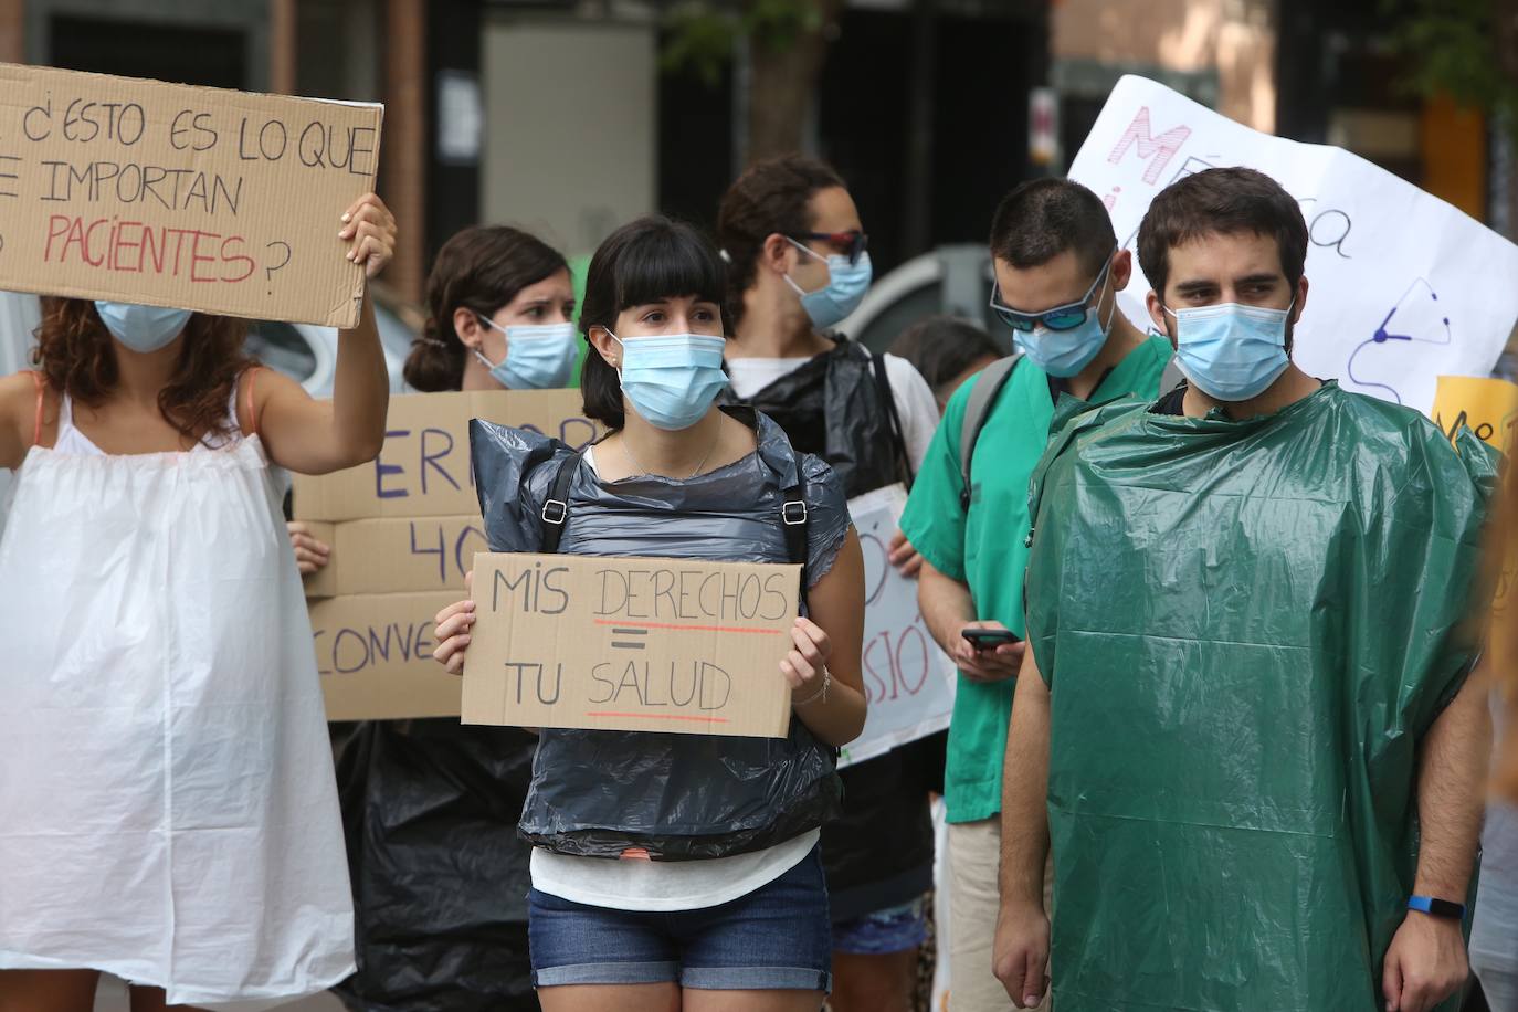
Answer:
[[[294,476],[298,520],[480,516],[469,464],[469,420],[530,428],[575,449],[604,429],[584,417],[578,390],[475,390],[390,398],[380,455],[332,475]]]

